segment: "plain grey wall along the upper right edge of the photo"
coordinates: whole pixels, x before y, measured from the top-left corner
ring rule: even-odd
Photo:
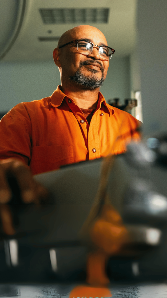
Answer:
[[[167,131],[166,12],[167,1],[138,1],[138,56],[145,135]]]

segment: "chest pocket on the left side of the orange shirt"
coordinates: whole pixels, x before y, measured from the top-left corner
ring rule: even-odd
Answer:
[[[73,162],[73,146],[37,146],[32,148],[30,168],[33,175],[58,169]]]

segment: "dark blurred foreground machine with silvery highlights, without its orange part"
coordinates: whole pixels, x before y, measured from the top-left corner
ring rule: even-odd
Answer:
[[[34,176],[51,192],[43,206],[22,204],[15,185],[11,186],[16,234],[1,233],[1,283],[85,280],[89,246],[80,231],[92,208],[103,207],[103,198],[98,202],[95,198],[104,160]],[[111,164],[105,191],[140,253],[111,256],[108,276],[163,280],[167,277],[167,137],[132,143],[126,154],[112,157]]]

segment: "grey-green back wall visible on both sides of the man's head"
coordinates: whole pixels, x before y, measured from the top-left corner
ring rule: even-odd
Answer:
[[[115,55],[115,54],[114,54]],[[101,87],[106,100],[130,97],[129,58],[111,58],[108,76]],[[50,96],[60,84],[53,61],[0,63],[0,113],[23,101]]]

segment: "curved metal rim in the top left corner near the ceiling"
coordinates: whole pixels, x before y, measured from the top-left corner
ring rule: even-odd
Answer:
[[[12,48],[13,44],[15,43],[15,41],[16,41],[19,33],[20,33],[21,26],[23,24],[25,8],[26,8],[26,0],[19,0],[17,18],[16,18],[16,21],[15,21],[15,27],[13,29],[13,32],[12,32],[10,38],[6,42],[5,46],[2,48],[2,52],[0,51],[0,60],[2,58],[4,58],[4,56]]]

